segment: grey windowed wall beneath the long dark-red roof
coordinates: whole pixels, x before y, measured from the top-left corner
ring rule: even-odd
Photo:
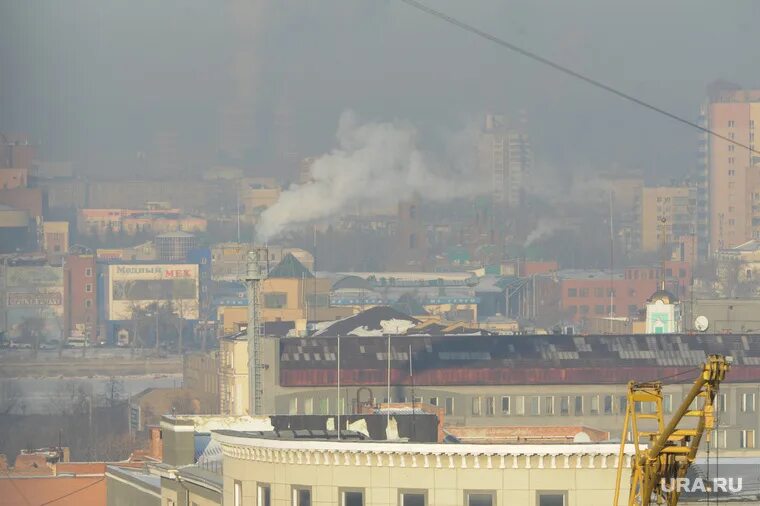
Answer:
[[[266,371],[268,372],[268,371]],[[265,385],[269,385],[265,383]],[[691,387],[691,378],[687,383],[665,385],[663,393],[669,398],[672,412],[681,402]],[[384,387],[372,387],[372,394],[378,402],[382,402],[387,396]],[[323,414],[320,410],[327,404],[328,411],[335,413],[338,403],[335,388],[283,388],[265,387],[265,405],[267,399],[273,402],[270,413],[291,414],[292,408],[296,412],[292,414],[304,414],[306,406],[313,406],[314,414]],[[346,386],[341,389],[343,403],[348,413],[352,412],[357,387]],[[720,422],[721,448],[740,450],[740,437],[742,430],[754,430],[760,435],[760,385],[757,383],[731,383],[730,373],[728,381],[721,384],[721,399],[725,400],[725,411],[718,413]],[[755,409],[742,411],[742,398],[744,394],[755,395]],[[268,397],[272,396],[272,397]],[[584,425],[608,431],[611,437],[620,437],[623,430],[624,405],[621,399],[626,395],[625,385],[512,385],[512,386],[455,386],[455,387],[431,387],[417,386],[414,396],[421,398],[425,403],[437,402],[444,408],[444,423],[446,425]],[[362,393],[362,400],[366,399],[366,392]],[[509,399],[510,412],[502,412],[502,399]],[[391,398],[394,402],[411,402],[412,390],[408,386],[391,385]],[[568,412],[562,414],[562,398],[567,399]],[[580,398],[580,401],[576,401]],[[298,399],[294,401],[293,399]],[[435,399],[435,401],[434,401]],[[453,402],[453,411],[446,412],[447,399]],[[479,399],[479,403],[478,403]],[[531,414],[532,399],[538,399],[539,414]],[[488,403],[493,405],[493,414],[488,413]],[[611,401],[611,410],[605,410],[606,401]],[[576,402],[582,405],[582,411],[575,409]],[[523,414],[520,414],[518,406],[522,403]],[[473,405],[480,406],[480,414],[475,414]],[[551,405],[551,409],[547,406]],[[596,413],[592,411],[596,406]],[[669,415],[666,413],[666,418]],[[725,444],[722,441],[725,440]],[[715,443],[713,443],[714,445]],[[760,439],[756,441],[760,447]],[[746,449],[751,450],[751,449]]]

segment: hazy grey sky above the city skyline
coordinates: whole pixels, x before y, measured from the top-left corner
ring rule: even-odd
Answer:
[[[427,1],[689,119],[712,80],[760,86],[760,2]],[[262,160],[274,111],[288,111],[308,155],[333,145],[350,108],[431,132],[524,111],[537,158],[560,170],[676,177],[694,164],[688,128],[397,0],[263,1],[250,22],[232,20],[230,3],[0,0],[0,130],[30,132],[53,159],[128,156],[159,131],[213,152],[242,40],[255,46],[242,49],[255,59]]]

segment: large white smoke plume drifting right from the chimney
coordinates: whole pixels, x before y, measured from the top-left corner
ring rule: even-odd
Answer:
[[[312,181],[292,185],[261,214],[257,241],[355,208],[390,208],[415,195],[450,200],[481,188],[472,166],[467,176],[451,167],[445,173],[432,170],[431,157],[417,147],[417,131],[409,124],[360,124],[348,111],[336,136],[338,148],[314,161]]]

